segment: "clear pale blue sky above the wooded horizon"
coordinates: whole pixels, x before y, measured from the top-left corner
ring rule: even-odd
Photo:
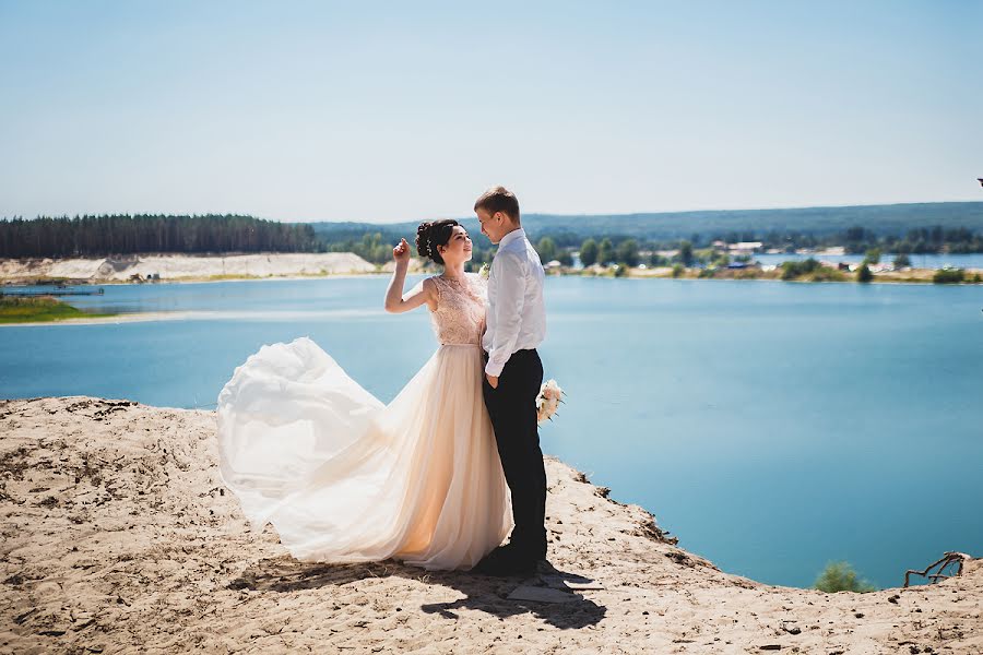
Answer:
[[[0,216],[983,200],[983,1],[0,0]]]

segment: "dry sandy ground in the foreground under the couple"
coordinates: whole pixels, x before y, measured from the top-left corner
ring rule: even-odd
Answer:
[[[0,401],[0,651],[983,652],[981,560],[932,587],[767,586],[666,543],[647,512],[555,460],[557,572],[299,563],[269,527],[248,532],[214,433],[209,412]]]

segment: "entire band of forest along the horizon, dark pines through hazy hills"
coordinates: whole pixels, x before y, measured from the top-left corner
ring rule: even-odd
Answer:
[[[461,219],[474,239],[474,263],[494,247],[477,221]],[[149,252],[355,252],[391,258],[416,223],[280,223],[244,215],[99,215],[0,219],[0,257],[105,257]],[[760,241],[763,249],[841,246],[850,253],[983,252],[983,202],[738,210],[595,216],[523,215],[544,262],[658,264],[659,250],[707,249],[714,241]],[[687,258],[685,258],[687,259]]]

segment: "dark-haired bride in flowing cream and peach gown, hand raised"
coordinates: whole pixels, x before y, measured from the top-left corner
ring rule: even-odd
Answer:
[[[482,400],[486,289],[464,273],[471,238],[457,221],[424,223],[416,249],[443,271],[404,296],[402,239],[386,310],[426,305],[440,346],[389,405],[307,337],[263,346],[218,395],[223,481],[298,560],[471,569],[512,528]]]

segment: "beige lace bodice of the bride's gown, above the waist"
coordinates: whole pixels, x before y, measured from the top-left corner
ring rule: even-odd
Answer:
[[[485,331],[485,299],[488,283],[479,275],[465,273],[462,279],[435,275],[437,309],[430,312],[434,332],[441,346],[482,344]]]

